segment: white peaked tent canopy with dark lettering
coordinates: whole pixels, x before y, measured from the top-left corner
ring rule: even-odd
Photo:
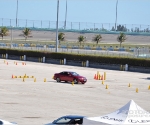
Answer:
[[[133,100],[115,112],[98,117],[85,117],[83,125],[150,125],[150,113]]]

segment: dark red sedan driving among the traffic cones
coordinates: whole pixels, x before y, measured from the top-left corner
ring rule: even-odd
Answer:
[[[54,74],[54,80],[57,82],[65,81],[65,82],[74,82],[75,84],[78,83],[86,83],[87,79],[83,76],[80,76],[76,72],[68,72],[68,71],[63,71],[60,73]]]

